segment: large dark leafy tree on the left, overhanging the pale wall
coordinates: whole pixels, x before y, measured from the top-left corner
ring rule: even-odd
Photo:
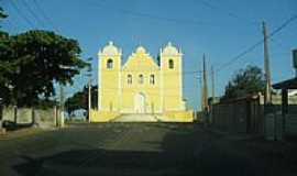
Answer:
[[[33,106],[40,97],[54,96],[54,82],[73,84],[73,77],[88,66],[80,58],[78,42],[54,32],[29,31],[9,36],[7,43],[9,47],[0,53],[0,61],[13,63],[9,69],[13,72],[0,74],[0,80],[10,80],[4,87],[10,87],[18,106]]]

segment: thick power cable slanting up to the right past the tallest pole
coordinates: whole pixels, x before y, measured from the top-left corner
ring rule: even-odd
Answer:
[[[295,20],[297,20],[297,14],[293,15],[292,18],[289,18],[288,20],[286,20],[280,26],[278,26],[277,29],[275,29],[270,35],[267,35],[267,38],[272,38],[272,36],[274,36],[277,33],[279,33],[283,29],[285,29],[290,22],[293,22]],[[244,50],[243,52],[241,52],[235,57],[231,58],[229,62],[222,64],[220,67],[217,68],[217,72],[220,72],[220,70],[224,69],[226,67],[230,66],[231,64],[233,64],[234,62],[239,61],[244,55],[246,55],[250,52],[254,51],[257,46],[262,45],[263,43],[264,43],[264,40],[261,40],[261,41],[256,42],[252,46],[250,46],[246,50]]]

